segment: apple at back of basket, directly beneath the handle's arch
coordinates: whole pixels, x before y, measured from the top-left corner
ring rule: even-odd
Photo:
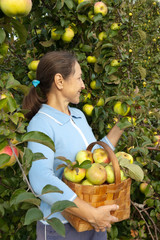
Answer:
[[[109,163],[108,153],[103,148],[97,148],[93,151],[93,160],[95,163]]]

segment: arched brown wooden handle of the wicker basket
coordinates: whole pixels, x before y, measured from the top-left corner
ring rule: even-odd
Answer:
[[[109,159],[112,162],[112,166],[113,166],[113,170],[114,170],[115,184],[121,183],[120,167],[119,167],[118,160],[117,160],[116,155],[114,154],[113,150],[105,142],[102,142],[102,141],[92,142],[91,144],[88,145],[87,150],[91,151],[93,146],[96,144],[102,146],[108,153]]]

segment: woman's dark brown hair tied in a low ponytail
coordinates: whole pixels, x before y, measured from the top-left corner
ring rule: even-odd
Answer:
[[[26,118],[31,119],[42,103],[47,102],[47,94],[55,75],[60,73],[64,79],[67,79],[74,73],[76,61],[74,53],[67,51],[48,52],[41,58],[36,73],[36,79],[40,81],[40,84],[36,88],[32,86],[23,100],[23,109],[29,110],[25,114]]]

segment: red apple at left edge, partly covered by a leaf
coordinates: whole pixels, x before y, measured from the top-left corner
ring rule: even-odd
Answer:
[[[16,156],[18,157],[18,155],[19,155],[18,150],[14,146],[13,146],[13,151],[15,152]],[[5,154],[11,156],[10,160],[7,163],[3,164],[0,167],[0,169],[9,167],[9,166],[13,166],[15,164],[16,157],[14,156],[13,151],[10,146],[5,146],[3,149],[0,150],[0,154],[5,153]]]

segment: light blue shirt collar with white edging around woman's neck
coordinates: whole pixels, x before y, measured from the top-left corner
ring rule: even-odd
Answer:
[[[42,104],[42,107],[38,111],[39,114],[42,112],[48,116],[49,118],[52,118],[55,122],[57,122],[60,125],[64,125],[65,123],[69,122],[71,118],[81,118],[80,111],[73,107],[68,107],[71,115],[67,115],[47,104]]]

